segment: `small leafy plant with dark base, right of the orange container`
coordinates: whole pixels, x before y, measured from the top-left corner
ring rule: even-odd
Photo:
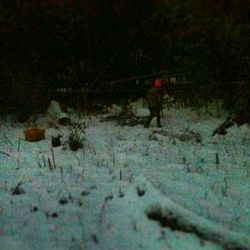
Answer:
[[[83,146],[86,125],[84,122],[75,122],[70,127],[68,144],[70,149],[76,151]]]

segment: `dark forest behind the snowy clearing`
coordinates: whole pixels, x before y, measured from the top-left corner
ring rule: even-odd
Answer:
[[[249,0],[5,0],[0,22],[2,112],[157,72],[223,91],[250,81]]]

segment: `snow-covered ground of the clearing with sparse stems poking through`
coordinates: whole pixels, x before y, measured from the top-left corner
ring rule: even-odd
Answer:
[[[2,119],[0,249],[250,249],[250,127],[212,137],[213,110],[165,109],[161,129],[84,117],[84,147],[54,163],[65,127],[31,143]]]

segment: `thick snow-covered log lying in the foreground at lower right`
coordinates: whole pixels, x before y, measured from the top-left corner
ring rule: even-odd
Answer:
[[[152,188],[159,193],[154,187]],[[250,250],[249,236],[225,229],[179,206],[168,198],[161,200],[161,203],[152,204],[146,210],[146,215],[148,218],[158,221],[162,227],[194,233],[199,238],[223,245],[224,249]]]

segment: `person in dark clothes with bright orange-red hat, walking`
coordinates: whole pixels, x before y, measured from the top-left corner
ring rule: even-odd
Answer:
[[[161,128],[161,110],[163,102],[163,81],[162,79],[155,79],[153,82],[153,87],[148,90],[146,101],[148,104],[148,109],[150,115],[146,121],[145,128],[149,127],[150,122],[154,117],[157,120],[157,127]]]

